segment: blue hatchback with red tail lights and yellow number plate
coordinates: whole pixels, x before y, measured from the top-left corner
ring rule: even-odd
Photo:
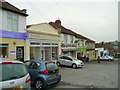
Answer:
[[[45,88],[45,86],[59,83],[61,75],[60,69],[54,62],[42,60],[27,60],[24,62],[31,77],[31,84],[36,89]]]

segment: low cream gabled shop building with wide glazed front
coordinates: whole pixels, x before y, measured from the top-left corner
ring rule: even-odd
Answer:
[[[47,23],[28,25],[29,58],[35,60],[57,60],[60,54],[58,31]]]

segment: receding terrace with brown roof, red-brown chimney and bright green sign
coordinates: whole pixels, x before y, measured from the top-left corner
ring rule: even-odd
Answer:
[[[90,60],[95,59],[95,41],[65,28],[61,25],[60,20],[49,24],[60,31],[61,55],[70,55],[76,58],[88,56]]]

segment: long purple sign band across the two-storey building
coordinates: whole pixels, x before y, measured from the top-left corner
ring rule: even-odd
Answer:
[[[20,33],[20,32],[0,30],[0,37],[26,39],[26,38],[28,38],[28,33]]]

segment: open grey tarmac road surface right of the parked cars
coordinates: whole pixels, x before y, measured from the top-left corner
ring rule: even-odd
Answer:
[[[83,68],[72,69],[60,67],[62,80],[55,88],[118,88],[118,60],[115,61],[90,61]]]

